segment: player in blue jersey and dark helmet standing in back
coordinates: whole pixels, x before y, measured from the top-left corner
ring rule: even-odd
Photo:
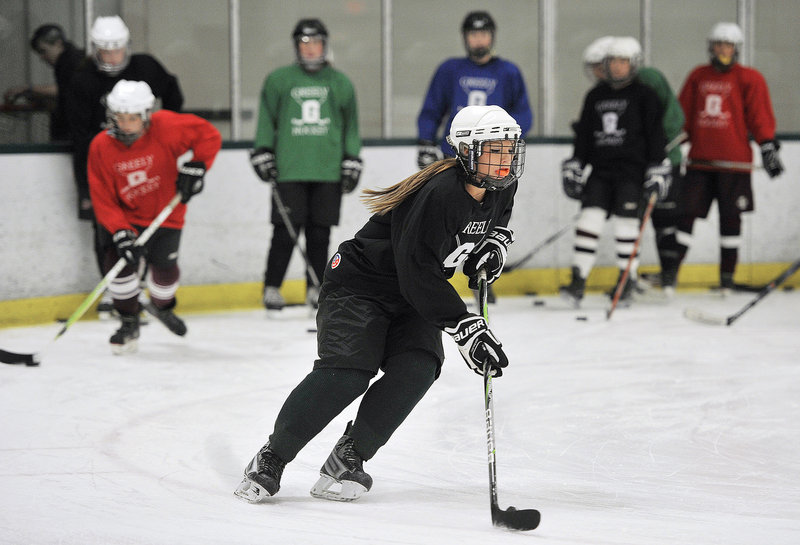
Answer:
[[[464,106],[500,106],[517,121],[523,135],[533,125],[522,73],[514,63],[492,54],[495,31],[489,13],[468,13],[461,25],[467,57],[447,59],[436,69],[417,118],[419,168],[441,158],[442,152],[453,155],[444,136],[437,134],[444,119],[442,135],[449,133],[453,117]]]

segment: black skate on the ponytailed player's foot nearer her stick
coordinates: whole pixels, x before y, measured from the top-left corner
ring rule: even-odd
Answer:
[[[372,477],[363,469],[364,460],[353,448],[352,428],[353,423],[348,422],[344,435],[319,470],[319,480],[311,488],[311,495],[315,498],[353,501],[372,488]],[[332,490],[334,485],[339,485],[339,490]]]

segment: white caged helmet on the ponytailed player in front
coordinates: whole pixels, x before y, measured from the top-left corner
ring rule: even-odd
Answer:
[[[488,142],[510,140],[510,164],[495,165],[502,177],[478,173],[478,160]],[[507,188],[525,167],[525,140],[519,124],[500,106],[466,106],[453,118],[447,142],[469,175],[469,183],[490,191]],[[492,168],[490,165],[489,172]]]

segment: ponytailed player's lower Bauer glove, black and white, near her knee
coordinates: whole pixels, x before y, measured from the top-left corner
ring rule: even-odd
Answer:
[[[445,327],[444,331],[453,337],[470,369],[483,376],[483,362],[489,358],[492,376],[502,376],[502,368],[508,365],[508,358],[501,348],[503,345],[489,330],[486,320],[475,314],[465,314],[456,325]]]

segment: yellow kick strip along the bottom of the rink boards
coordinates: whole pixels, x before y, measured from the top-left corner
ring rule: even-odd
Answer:
[[[789,266],[789,263],[739,264],[735,281],[741,284],[765,285],[776,278]],[[657,266],[642,266],[641,272],[657,272]],[[617,281],[615,267],[597,267],[592,270],[586,283],[588,291],[605,291]],[[569,282],[569,269],[520,269],[504,274],[495,284],[498,296],[519,296],[536,293],[552,295],[558,287]],[[470,296],[467,279],[458,274],[452,280],[453,286],[463,297]],[[679,291],[708,289],[719,284],[719,267],[710,264],[687,264],[681,267],[678,275]],[[800,286],[800,272],[792,275],[784,284]],[[287,280],[281,287],[281,294],[287,303],[299,304],[305,300],[305,281]],[[213,284],[204,286],[183,286],[178,289],[178,312],[189,314],[197,312],[218,312],[223,310],[252,310],[261,308],[261,283]],[[0,328],[20,327],[53,323],[68,318],[86,294],[56,295],[0,301]],[[97,305],[92,306],[82,319],[97,319]]]

